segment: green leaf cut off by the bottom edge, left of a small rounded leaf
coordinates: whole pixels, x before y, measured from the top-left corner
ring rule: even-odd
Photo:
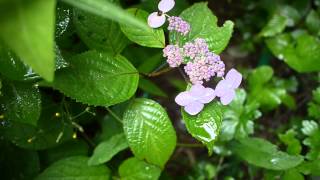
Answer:
[[[88,157],[73,156],[59,160],[45,169],[36,180],[90,179],[102,180],[110,178],[110,170],[106,166],[88,166]]]

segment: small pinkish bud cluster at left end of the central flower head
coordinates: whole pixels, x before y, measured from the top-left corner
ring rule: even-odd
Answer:
[[[167,57],[170,67],[178,67],[183,61],[182,49],[178,45],[168,45],[163,49],[163,57]]]

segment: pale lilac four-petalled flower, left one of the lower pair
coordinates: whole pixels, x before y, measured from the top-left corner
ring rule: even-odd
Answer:
[[[215,98],[214,90],[205,88],[200,84],[193,85],[189,91],[178,94],[175,101],[190,115],[198,114],[204,104],[211,102]]]

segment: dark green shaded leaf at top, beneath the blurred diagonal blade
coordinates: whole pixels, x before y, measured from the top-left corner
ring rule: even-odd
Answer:
[[[77,33],[89,48],[118,54],[127,46],[128,39],[116,22],[78,9],[73,15]]]

